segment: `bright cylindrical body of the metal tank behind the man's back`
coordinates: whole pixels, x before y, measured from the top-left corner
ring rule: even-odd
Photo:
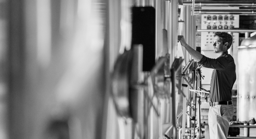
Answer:
[[[256,111],[256,47],[238,50],[237,114],[239,121],[249,121]]]

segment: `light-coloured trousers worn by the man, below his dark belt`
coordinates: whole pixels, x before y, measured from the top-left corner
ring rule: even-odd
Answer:
[[[226,139],[229,122],[234,114],[234,105],[215,105],[210,107],[208,123],[210,139]]]

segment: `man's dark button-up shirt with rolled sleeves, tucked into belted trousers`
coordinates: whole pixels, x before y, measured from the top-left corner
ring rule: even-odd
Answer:
[[[232,100],[232,88],[236,81],[236,65],[234,59],[228,52],[224,52],[217,59],[210,59],[205,56],[199,61],[205,68],[212,71],[210,101]]]

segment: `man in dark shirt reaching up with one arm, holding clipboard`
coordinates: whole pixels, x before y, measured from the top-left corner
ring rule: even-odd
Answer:
[[[232,87],[236,80],[236,66],[234,59],[228,54],[232,44],[232,36],[225,32],[216,32],[213,39],[213,52],[219,57],[210,59],[191,48],[183,36],[178,36],[178,41],[185,47],[192,58],[205,68],[214,69],[210,88],[210,109],[208,123],[210,139],[226,139],[228,136],[229,121],[234,114],[232,104]],[[206,91],[203,88],[200,88]],[[205,97],[207,93],[197,92]]]

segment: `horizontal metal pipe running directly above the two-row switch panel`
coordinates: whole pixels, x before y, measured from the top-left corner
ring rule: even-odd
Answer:
[[[194,15],[201,14],[234,14],[234,15],[255,15],[256,9],[195,9]]]

